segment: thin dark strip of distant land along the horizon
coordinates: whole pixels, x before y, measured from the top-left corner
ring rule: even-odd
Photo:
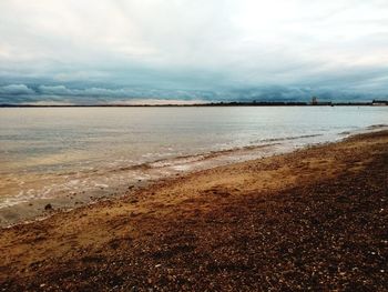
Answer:
[[[12,104],[3,103],[0,108],[193,108],[193,107],[386,107],[388,101],[379,102],[211,102],[194,104]]]

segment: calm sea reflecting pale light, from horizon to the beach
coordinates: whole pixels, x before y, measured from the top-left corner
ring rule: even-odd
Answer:
[[[388,107],[2,108],[0,210],[109,197],[384,124]]]

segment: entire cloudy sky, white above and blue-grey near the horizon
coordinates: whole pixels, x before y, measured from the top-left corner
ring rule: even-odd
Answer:
[[[387,0],[1,0],[0,103],[388,97]]]

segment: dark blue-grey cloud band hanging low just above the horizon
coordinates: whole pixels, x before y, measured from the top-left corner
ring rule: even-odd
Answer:
[[[6,92],[2,90],[7,88]],[[9,90],[10,88],[13,91]],[[20,90],[16,90],[20,89]],[[23,90],[21,90],[23,89]],[[367,88],[368,89],[368,88]],[[72,104],[98,104],[98,103],[126,103],[126,102],[159,102],[182,100],[191,101],[308,101],[312,95],[318,95],[320,100],[346,101],[363,100],[372,98],[386,98],[387,93],[369,93],[361,90],[348,89],[338,90],[317,87],[244,87],[224,88],[218,90],[171,90],[171,89],[144,89],[144,88],[116,88],[108,89],[102,87],[91,88],[68,88],[58,85],[7,85],[0,89],[1,103],[35,103],[35,102],[65,102]]]

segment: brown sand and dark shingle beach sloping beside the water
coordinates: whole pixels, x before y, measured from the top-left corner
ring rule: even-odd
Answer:
[[[388,288],[388,131],[0,231],[0,291]]]

